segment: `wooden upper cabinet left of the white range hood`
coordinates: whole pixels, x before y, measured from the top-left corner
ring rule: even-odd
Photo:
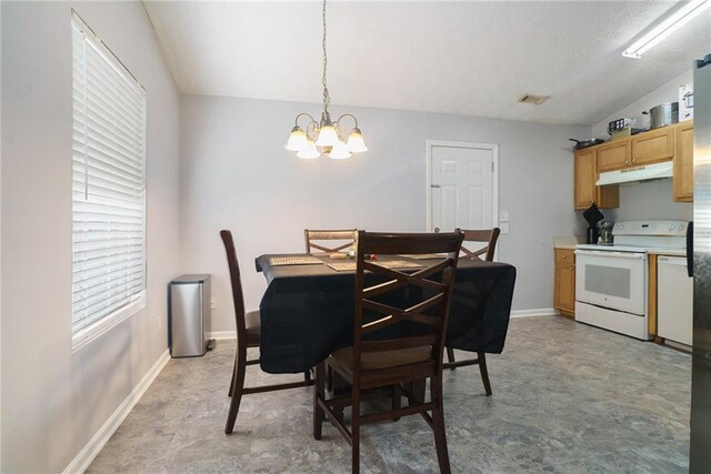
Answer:
[[[574,208],[588,209],[593,202],[598,208],[610,209],[620,205],[620,191],[617,184],[599,186],[597,148],[575,151]]]

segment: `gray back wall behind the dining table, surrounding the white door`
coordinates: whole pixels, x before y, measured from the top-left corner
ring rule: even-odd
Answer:
[[[589,128],[404,112],[353,112],[370,151],[349,161],[299,160],[283,149],[297,113],[319,104],[181,97],[181,262],[213,274],[214,331],[233,331],[220,229],[231,229],[247,305],[266,282],[263,253],[302,252],[304,228],[423,231],[429,140],[499,144],[499,209],[510,212],[499,260],[519,271],[514,310],[552,307],[552,235],[582,233],[572,205],[569,137]]]

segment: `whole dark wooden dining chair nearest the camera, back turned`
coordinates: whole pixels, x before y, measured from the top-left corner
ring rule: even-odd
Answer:
[[[442,352],[461,233],[387,234],[359,232],[356,271],[353,345],[338,349],[317,365],[313,392],[313,437],[321,438],[328,417],[351,444],[353,473],[360,466],[360,430],[369,423],[420,414],[434,432],[437,457],[449,473],[449,454],[442,403]],[[445,253],[445,259],[421,260],[422,268],[399,271],[379,264],[383,255]],[[375,254],[378,260],[365,260]],[[403,307],[404,306],[404,307]],[[330,366],[351,390],[327,399],[326,367]],[[412,386],[430,380],[430,400]],[[361,413],[367,391],[387,387],[391,407]],[[405,396],[407,406],[401,406]],[[351,427],[342,409],[351,407]],[[412,436],[408,433],[407,436]]]

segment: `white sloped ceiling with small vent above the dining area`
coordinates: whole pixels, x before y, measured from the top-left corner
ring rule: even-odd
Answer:
[[[144,1],[181,94],[321,102],[318,1]],[[328,3],[331,102],[594,124],[711,52],[711,9],[633,60],[674,1]],[[542,105],[517,103],[550,95]]]

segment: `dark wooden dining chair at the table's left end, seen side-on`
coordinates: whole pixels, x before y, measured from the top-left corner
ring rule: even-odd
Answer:
[[[306,372],[304,380],[302,382],[263,386],[244,386],[247,366],[259,364],[259,359],[251,361],[247,360],[247,349],[259,347],[261,319],[259,311],[250,311],[249,313],[244,312],[244,295],[242,294],[240,265],[237,261],[237,252],[234,251],[232,233],[223,230],[220,231],[220,236],[224,243],[227,263],[230,268],[232,300],[234,301],[234,322],[237,325],[237,353],[234,355],[234,367],[232,370],[232,380],[230,382],[230,390],[228,393],[232,400],[230,401],[230,411],[227,415],[227,424],[224,425],[224,433],[230,434],[234,428],[234,421],[237,420],[237,413],[240,410],[242,395],[313,385],[313,380],[311,380],[310,372]]]

